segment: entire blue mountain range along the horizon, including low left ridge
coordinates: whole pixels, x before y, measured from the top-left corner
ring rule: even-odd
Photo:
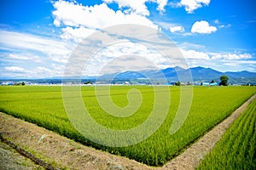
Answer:
[[[248,82],[256,85],[256,72],[250,71],[216,71],[212,68],[205,67],[193,67],[189,69],[183,69],[181,67],[166,68],[163,70],[143,70],[143,71],[123,71],[115,72],[111,74],[104,74],[101,77],[89,77],[83,76],[82,82],[99,82],[99,83],[113,83],[113,82],[148,82],[148,79],[152,82],[161,82],[163,75],[166,77],[168,82],[183,82],[183,76],[192,76],[191,82],[219,82],[219,77],[222,75],[228,76],[230,83],[247,84]],[[179,76],[179,78],[177,77]],[[80,77],[66,77],[65,80],[79,79]],[[2,80],[2,81],[1,81]],[[49,83],[61,83],[62,77],[49,77],[41,79],[28,79],[28,78],[11,78],[11,77],[0,77],[0,82],[12,81],[15,82],[22,80],[28,82],[49,82]]]

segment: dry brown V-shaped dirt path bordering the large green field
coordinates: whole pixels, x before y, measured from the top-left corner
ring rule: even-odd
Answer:
[[[4,113],[0,113],[0,134],[5,142],[18,145],[38,160],[60,169],[195,169],[253,99],[256,99],[256,94],[224,122],[219,123],[183,154],[167,162],[163,167],[148,167],[125,157],[113,156],[107,152],[86,147],[43,127]]]

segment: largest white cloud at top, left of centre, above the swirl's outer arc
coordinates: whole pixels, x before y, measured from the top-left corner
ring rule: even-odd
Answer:
[[[105,2],[111,3],[113,1],[107,0]],[[61,37],[65,40],[80,42],[84,37],[89,36],[98,29],[101,30],[108,26],[121,24],[137,24],[158,28],[144,14],[125,13],[121,10],[114,11],[112,8],[108,8],[106,3],[88,7],[65,1],[55,2],[53,4],[55,11],[52,14],[55,18],[55,26],[64,26]],[[141,3],[145,3],[145,1],[119,1],[119,6],[125,7],[129,5],[129,7],[140,11],[143,9],[142,7],[137,7],[137,5]]]

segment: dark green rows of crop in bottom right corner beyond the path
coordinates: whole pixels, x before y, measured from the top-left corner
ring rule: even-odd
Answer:
[[[224,133],[198,169],[256,169],[256,99]]]

